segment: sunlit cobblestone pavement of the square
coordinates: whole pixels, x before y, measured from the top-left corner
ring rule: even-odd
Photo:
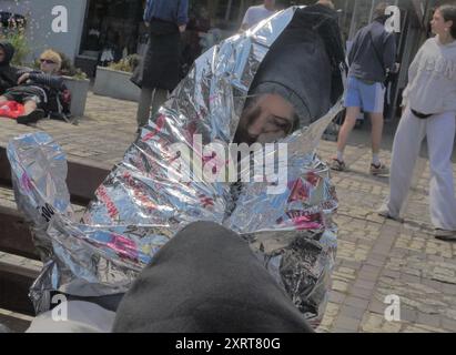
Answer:
[[[89,95],[87,116],[79,125],[42,121],[70,159],[113,165],[134,139],[133,102]],[[0,143],[28,126],[0,120]],[[456,332],[456,244],[436,241],[428,216],[429,164],[420,158],[404,209],[405,223],[386,221],[374,211],[388,192],[387,178],[368,174],[368,131],[356,132],[346,151],[349,171],[333,173],[340,211],[340,246],[333,292],[318,332]],[[382,158],[389,163],[392,133]],[[328,160],[335,143],[322,141],[320,153]],[[456,164],[454,164],[456,170]],[[0,200],[8,192],[0,190]],[[10,255],[0,254],[4,260]],[[27,263],[18,260],[18,263]],[[39,266],[33,262],[32,266]],[[401,322],[387,322],[385,296],[401,300]]]

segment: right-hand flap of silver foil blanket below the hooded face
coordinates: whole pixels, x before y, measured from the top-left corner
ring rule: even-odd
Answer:
[[[249,241],[314,326],[320,324],[327,304],[337,250],[333,214],[338,206],[330,169],[315,150],[325,128],[341,109],[338,103],[325,118],[284,141],[288,159],[283,193],[272,195],[267,183],[243,184],[236,207],[224,223]],[[275,153],[272,151],[270,155]],[[276,156],[270,158],[280,166]],[[267,154],[264,159],[267,161]]]

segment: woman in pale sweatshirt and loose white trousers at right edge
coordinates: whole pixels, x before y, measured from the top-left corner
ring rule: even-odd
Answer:
[[[452,153],[456,129],[456,6],[439,7],[435,38],[419,49],[408,72],[404,112],[393,144],[389,196],[378,211],[399,220],[424,138],[430,163],[429,207],[435,236],[456,241]]]

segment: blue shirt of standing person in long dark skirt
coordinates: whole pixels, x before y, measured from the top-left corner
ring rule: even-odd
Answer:
[[[174,22],[178,26],[189,22],[189,0],[148,0],[144,10],[144,21],[152,18]]]

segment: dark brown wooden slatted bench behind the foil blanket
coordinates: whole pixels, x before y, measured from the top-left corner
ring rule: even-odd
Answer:
[[[97,187],[108,176],[110,169],[100,164],[69,161],[67,183],[71,202],[87,205],[93,199]],[[11,170],[6,149],[0,146],[0,186],[12,189]],[[32,243],[29,225],[16,207],[2,205],[0,201],[0,252],[39,261]],[[2,260],[3,258],[3,260]],[[21,332],[29,322],[14,317],[10,312],[33,316],[32,303],[28,297],[29,288],[39,272],[24,265],[4,261],[0,255],[0,324],[12,331]]]

